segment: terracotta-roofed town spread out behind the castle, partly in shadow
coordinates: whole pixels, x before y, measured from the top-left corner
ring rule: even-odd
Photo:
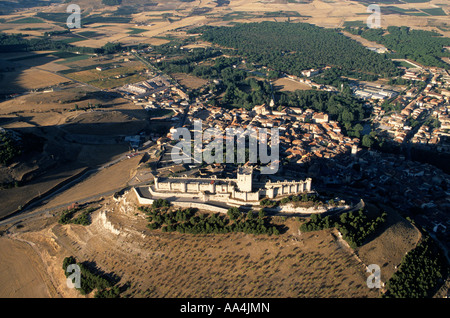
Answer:
[[[417,66],[416,63],[414,65]],[[316,86],[319,90],[338,92],[339,88],[314,84],[314,76],[321,71],[305,70],[304,78],[284,76]],[[373,114],[366,127],[394,144],[410,142],[414,147],[448,152],[448,71],[419,66],[413,70],[405,69],[402,78],[425,84],[422,88],[411,85],[405,90],[392,85],[353,84],[354,95],[364,100]],[[340,124],[329,120],[328,114],[324,112],[275,106],[274,100],[252,110],[226,109],[208,103],[212,97],[209,91],[190,100],[185,89],[166,74],[160,73],[148,83],[127,85],[120,91],[125,91],[126,96],[149,113],[165,114],[158,120],[168,121],[171,126],[165,135],[152,135],[154,146],[149,151],[160,156],[153,171],[155,176],[208,178],[215,175],[220,178],[236,175],[236,170],[227,173],[228,169],[223,164],[205,166],[204,162],[198,162],[182,165],[171,161],[168,152],[172,149],[172,134],[177,128],[187,128],[193,133],[195,121],[202,122],[203,131],[215,128],[223,135],[230,128],[277,128],[280,134],[281,165],[274,180],[284,180],[286,176],[295,180],[312,178],[314,190],[331,191],[340,197],[345,197],[344,193],[347,193],[347,198],[351,192],[354,202],[358,202],[359,198],[389,202],[398,210],[413,213],[418,213],[417,209],[432,209],[432,214],[426,213],[419,217],[422,224],[440,235],[448,233],[450,224],[445,211],[449,205],[446,185],[450,180],[434,166],[404,161],[402,155],[362,147],[360,138],[345,136]],[[386,109],[386,105],[395,105],[396,108]],[[203,146],[206,147],[207,143]],[[156,152],[155,147],[158,149]],[[201,169],[196,169],[199,166]],[[420,197],[416,195],[419,192]]]

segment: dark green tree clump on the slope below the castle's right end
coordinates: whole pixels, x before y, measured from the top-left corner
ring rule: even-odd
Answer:
[[[339,217],[330,215],[323,217],[321,214],[313,214],[308,222],[300,226],[300,230],[311,232],[335,227],[341,232],[343,239],[350,247],[356,248],[374,235],[375,231],[386,222],[386,217],[386,212],[376,217],[369,217],[364,209],[342,213]]]

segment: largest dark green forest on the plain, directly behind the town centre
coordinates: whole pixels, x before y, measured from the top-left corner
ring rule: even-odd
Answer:
[[[202,39],[232,48],[250,62],[301,76],[310,68],[332,66],[341,75],[354,72],[382,77],[398,74],[395,64],[334,29],[307,23],[261,22],[233,27],[202,27]]]

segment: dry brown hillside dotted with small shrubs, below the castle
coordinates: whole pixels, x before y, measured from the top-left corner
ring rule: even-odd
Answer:
[[[61,270],[69,255],[117,274],[120,284],[129,282],[131,297],[379,296],[366,286],[365,266],[329,230],[300,235],[299,222],[288,219],[279,220],[289,230],[278,237],[161,233],[145,227],[131,193],[101,204],[88,227],[57,224],[56,214],[11,229],[39,252],[45,281],[55,286],[53,297],[79,297],[67,290]],[[399,232],[392,221],[394,228],[359,250],[364,262],[366,256],[370,261],[377,255],[396,257],[391,249],[403,253],[401,242],[412,234],[405,235],[406,226]],[[365,248],[378,254],[366,255]],[[6,273],[0,271],[0,279]]]

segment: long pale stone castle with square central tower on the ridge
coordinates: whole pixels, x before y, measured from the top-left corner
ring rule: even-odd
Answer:
[[[148,190],[152,197],[196,199],[201,202],[222,202],[229,205],[259,205],[268,197],[298,195],[311,192],[312,179],[304,181],[255,182],[253,169],[241,167],[237,178],[159,178]]]

